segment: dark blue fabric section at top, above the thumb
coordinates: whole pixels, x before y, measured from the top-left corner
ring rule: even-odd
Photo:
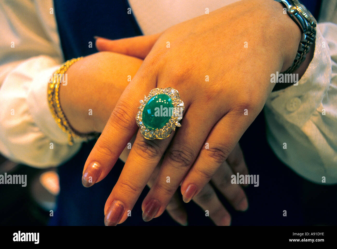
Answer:
[[[65,60],[96,53],[93,36],[110,39],[142,35],[126,0],[55,0],[54,8]],[[92,48],[89,48],[92,42]]]

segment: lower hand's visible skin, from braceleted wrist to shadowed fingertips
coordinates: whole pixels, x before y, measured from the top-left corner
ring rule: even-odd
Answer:
[[[133,78],[142,62],[141,59],[127,55],[99,52],[70,66],[67,71],[68,84],[61,85],[59,93],[61,107],[73,129],[81,133],[102,132],[120,95],[129,83],[128,76]],[[106,98],[107,95],[109,98]],[[88,115],[89,109],[93,110],[93,115]],[[134,142],[134,137],[130,142]],[[130,149],[126,147],[120,159],[125,162],[129,152]],[[244,211],[248,208],[248,201],[242,187],[229,184],[233,169],[242,174],[248,173],[239,145],[230,158],[219,168],[218,177],[214,177],[212,183],[236,210]],[[160,163],[147,183],[150,188],[155,183],[159,169]],[[88,186],[86,182],[84,185]],[[229,222],[230,215],[210,184],[207,184],[193,201],[202,209],[210,210],[210,218],[215,224],[223,225]],[[166,210],[175,221],[182,225],[187,224],[187,213],[178,192],[174,194]]]

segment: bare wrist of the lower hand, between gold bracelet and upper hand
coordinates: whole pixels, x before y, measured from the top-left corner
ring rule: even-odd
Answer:
[[[67,84],[60,84],[59,90],[60,104],[70,125],[80,133],[102,132],[129,83],[128,75],[133,77],[142,62],[127,55],[99,52],[71,65]]]

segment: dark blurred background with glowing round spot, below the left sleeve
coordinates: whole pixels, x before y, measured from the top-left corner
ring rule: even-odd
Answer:
[[[27,175],[27,186],[0,185],[0,225],[47,225],[50,210],[56,210],[59,193],[54,168],[36,169],[11,162],[0,155],[0,174]]]

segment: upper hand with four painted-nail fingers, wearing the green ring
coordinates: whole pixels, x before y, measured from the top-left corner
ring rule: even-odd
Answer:
[[[165,151],[143,201],[145,219],[161,215],[180,184],[185,200],[196,196],[262,110],[275,85],[270,75],[292,64],[300,38],[283,6],[264,0],[240,1],[163,32],[121,95],[84,171],[96,164],[97,181],[109,173],[137,131],[138,101],[153,88],[179,91],[185,103],[182,127],[164,140],[137,133],[106,201],[106,224],[127,218],[125,211],[132,209]]]

